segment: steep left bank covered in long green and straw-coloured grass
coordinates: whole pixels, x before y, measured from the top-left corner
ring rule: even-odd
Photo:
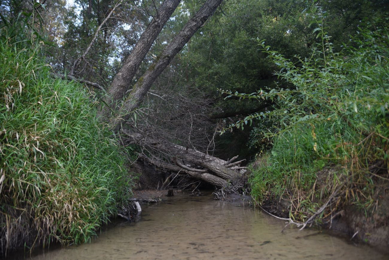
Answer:
[[[13,35],[13,36],[12,36]],[[0,250],[89,241],[131,192],[123,152],[35,35],[0,37]]]

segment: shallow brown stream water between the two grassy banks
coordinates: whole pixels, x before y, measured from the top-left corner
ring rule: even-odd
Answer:
[[[383,253],[212,196],[174,196],[143,206],[142,221],[118,222],[90,244],[33,257],[63,259],[387,259]]]

